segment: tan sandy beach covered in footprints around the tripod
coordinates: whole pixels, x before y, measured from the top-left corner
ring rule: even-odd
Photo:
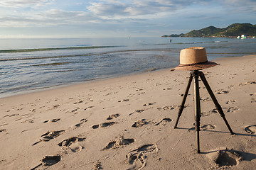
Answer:
[[[0,169],[255,169],[256,55],[204,69],[201,154],[189,72],[165,69],[0,98]]]

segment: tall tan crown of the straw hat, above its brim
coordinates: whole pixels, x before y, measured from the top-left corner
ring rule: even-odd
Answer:
[[[206,49],[204,47],[188,47],[181,50],[180,64],[198,64],[207,62]]]

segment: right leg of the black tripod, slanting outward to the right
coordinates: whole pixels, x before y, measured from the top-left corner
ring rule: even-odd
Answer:
[[[215,104],[215,107],[218,110],[218,113],[220,113],[221,117],[223,118],[223,120],[225,121],[225,124],[228,126],[228,130],[230,131],[231,135],[234,135],[235,133],[232,131],[232,129],[230,128],[230,125],[228,124],[228,121],[225,118],[225,114],[223,113],[223,109],[221,108],[220,104],[218,103],[217,99],[215,98],[213,91],[210,89],[210,86],[206,80],[206,77],[204,76],[203,72],[201,72],[200,77],[203,81],[203,84],[206,86],[206,89],[208,91],[208,93],[210,94],[210,97],[213,99],[213,102]]]

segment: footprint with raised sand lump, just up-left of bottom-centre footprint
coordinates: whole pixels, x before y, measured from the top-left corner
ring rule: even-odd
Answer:
[[[106,149],[117,149],[119,147],[124,147],[125,145],[129,145],[135,142],[134,139],[124,139],[123,136],[119,136],[116,139],[110,141],[106,147],[103,147],[102,150]]]

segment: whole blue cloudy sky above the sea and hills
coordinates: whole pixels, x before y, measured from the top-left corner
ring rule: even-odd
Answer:
[[[0,38],[161,37],[256,24],[256,0],[0,0]]]

